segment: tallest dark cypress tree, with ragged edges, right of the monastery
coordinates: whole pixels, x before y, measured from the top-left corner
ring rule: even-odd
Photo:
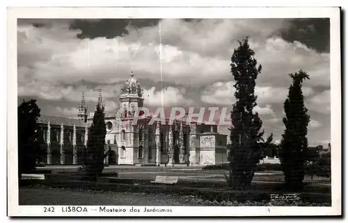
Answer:
[[[257,96],[255,96],[255,80],[261,72],[254,58],[255,52],[249,47],[248,38],[239,42],[231,58],[231,73],[236,81],[235,98],[232,106],[230,129],[231,147],[230,161],[230,185],[232,188],[244,189],[250,185],[253,179],[256,165],[262,156],[263,131],[262,120],[258,113],[253,112]]]

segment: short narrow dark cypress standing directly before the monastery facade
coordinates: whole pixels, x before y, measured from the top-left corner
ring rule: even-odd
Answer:
[[[96,180],[104,169],[106,124],[104,121],[104,106],[98,103],[93,123],[88,129],[86,169],[88,175]]]

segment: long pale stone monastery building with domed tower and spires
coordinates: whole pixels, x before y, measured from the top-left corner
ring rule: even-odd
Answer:
[[[190,165],[227,163],[227,136],[219,134],[216,125],[187,124],[181,120],[152,123],[150,116],[133,124],[136,108],[143,107],[143,88],[132,74],[120,92],[120,114],[105,117],[104,163],[172,165],[186,164],[188,160]],[[98,103],[102,104],[101,91]],[[78,119],[41,116],[38,122],[45,138],[42,146],[47,148],[47,157],[42,159],[45,163],[84,163],[88,126],[93,122],[84,92]]]

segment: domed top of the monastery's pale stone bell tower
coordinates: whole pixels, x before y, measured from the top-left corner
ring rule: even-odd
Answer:
[[[143,107],[143,88],[133,72],[120,90],[121,117],[134,117],[137,108]]]

